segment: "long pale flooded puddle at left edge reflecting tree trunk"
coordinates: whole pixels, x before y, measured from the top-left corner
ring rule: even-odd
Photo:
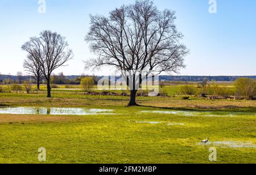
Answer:
[[[27,114],[27,115],[114,115],[113,110],[82,109],[60,107],[3,107],[0,114]]]

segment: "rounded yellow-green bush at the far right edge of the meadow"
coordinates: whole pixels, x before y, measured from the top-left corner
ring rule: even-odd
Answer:
[[[238,78],[236,83],[236,93],[239,97],[253,98],[256,93],[256,81],[250,78]]]

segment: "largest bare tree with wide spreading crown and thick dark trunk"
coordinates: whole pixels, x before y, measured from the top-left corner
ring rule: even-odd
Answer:
[[[90,19],[85,40],[97,57],[85,61],[87,68],[107,65],[121,72],[156,75],[178,72],[185,67],[188,49],[179,42],[183,35],[174,24],[174,11],[159,11],[152,1],[139,0],[111,11],[109,16],[90,15]],[[129,85],[128,78],[125,80]],[[129,87],[138,87],[135,82]],[[129,106],[137,105],[137,91],[130,88]]]

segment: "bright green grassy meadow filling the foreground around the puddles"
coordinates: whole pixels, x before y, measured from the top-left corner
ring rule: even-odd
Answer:
[[[129,97],[52,95],[0,94],[0,106],[111,109],[114,115],[0,114],[0,163],[40,163],[40,147],[47,151],[44,163],[212,163],[210,147],[217,149],[215,163],[256,163],[256,101],[177,95],[138,97],[142,106],[126,107]],[[207,137],[211,143],[201,145]]]

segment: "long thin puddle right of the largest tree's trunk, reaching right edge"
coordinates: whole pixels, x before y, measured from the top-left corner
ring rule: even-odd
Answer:
[[[141,113],[170,114],[180,116],[235,117],[240,115],[256,116],[256,113],[225,112],[225,111],[141,111]]]

